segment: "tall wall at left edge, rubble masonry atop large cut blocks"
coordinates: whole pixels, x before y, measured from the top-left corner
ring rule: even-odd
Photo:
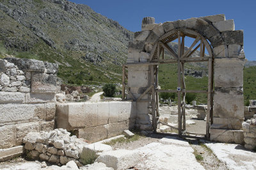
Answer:
[[[0,149],[19,146],[28,132],[52,130],[58,65],[0,59]]]

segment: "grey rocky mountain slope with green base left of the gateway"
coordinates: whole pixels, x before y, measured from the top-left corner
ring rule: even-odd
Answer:
[[[0,1],[0,56],[58,63],[59,77],[70,84],[118,81],[133,36],[85,4]]]

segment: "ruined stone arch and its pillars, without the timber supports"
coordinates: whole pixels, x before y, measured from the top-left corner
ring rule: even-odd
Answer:
[[[148,91],[152,90],[148,89],[148,63],[152,63],[151,60],[156,55],[156,42],[166,36],[176,36],[175,32],[179,30],[191,31],[205,39],[205,46],[214,58],[214,116],[211,140],[241,143],[241,140],[236,139],[241,139],[243,135],[243,30],[235,31],[234,20],[225,20],[225,15],[176,20],[163,24],[155,24],[154,18],[146,17],[141,29],[142,31],[134,34],[134,41],[129,43],[125,65],[128,68],[127,98],[136,101],[137,127],[140,130],[152,130],[152,123],[147,115],[152,100],[148,95]]]

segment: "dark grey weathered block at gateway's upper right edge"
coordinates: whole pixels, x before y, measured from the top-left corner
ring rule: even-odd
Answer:
[[[223,31],[221,35],[224,37],[224,42],[226,45],[239,44],[244,45],[244,31]]]

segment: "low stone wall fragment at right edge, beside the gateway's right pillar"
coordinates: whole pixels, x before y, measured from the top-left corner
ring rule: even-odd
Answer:
[[[256,114],[252,119],[243,122],[244,147],[256,150]]]

